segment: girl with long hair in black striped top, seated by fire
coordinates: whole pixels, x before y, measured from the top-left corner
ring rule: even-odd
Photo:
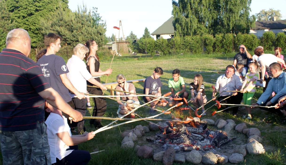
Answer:
[[[204,112],[204,103],[206,103],[206,93],[204,92],[204,79],[202,75],[197,74],[194,76],[194,83],[190,83],[191,101],[197,108],[202,106],[202,115],[206,115]]]

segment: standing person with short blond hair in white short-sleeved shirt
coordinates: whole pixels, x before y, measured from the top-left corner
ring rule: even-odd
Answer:
[[[67,61],[67,68],[69,70],[67,78],[80,92],[86,92],[86,81],[100,87],[102,90],[106,90],[104,85],[92,78],[92,75],[86,69],[86,64],[82,61],[88,52],[88,48],[83,44],[78,44],[74,47],[74,55]],[[86,99],[72,98],[72,101],[75,104],[75,109],[84,116],[86,114]],[[84,120],[78,122],[77,126],[79,133],[85,132]]]

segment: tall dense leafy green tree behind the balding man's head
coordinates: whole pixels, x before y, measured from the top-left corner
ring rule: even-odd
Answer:
[[[64,9],[68,9],[68,0],[2,0],[7,5],[10,18],[15,22],[14,28],[23,28],[29,32],[31,46],[37,47],[43,41],[41,34],[41,19],[53,15],[59,7],[59,2]],[[54,19],[54,18],[53,18]],[[2,22],[1,22],[2,23]]]

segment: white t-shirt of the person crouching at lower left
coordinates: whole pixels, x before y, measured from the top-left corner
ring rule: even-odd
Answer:
[[[50,146],[51,163],[56,162],[56,158],[61,160],[73,150],[67,150],[67,146],[58,136],[57,133],[69,132],[69,136],[72,136],[69,125],[67,124],[67,118],[61,117],[59,114],[50,113],[47,120],[47,134]]]

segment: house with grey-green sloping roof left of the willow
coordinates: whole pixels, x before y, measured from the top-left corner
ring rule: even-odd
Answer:
[[[173,27],[174,17],[172,16],[166,22],[164,22],[158,29],[156,29],[151,35],[153,35],[156,41],[159,38],[169,39],[174,37],[174,27]]]

